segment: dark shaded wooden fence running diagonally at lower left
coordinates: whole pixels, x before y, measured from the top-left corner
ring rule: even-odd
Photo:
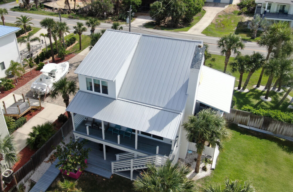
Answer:
[[[64,125],[62,125],[62,127],[30,157],[30,160],[26,164],[13,173],[16,186],[25,183],[30,178],[38,166],[53,151],[54,147],[56,147],[71,130],[73,130],[73,126],[72,120],[69,118]]]

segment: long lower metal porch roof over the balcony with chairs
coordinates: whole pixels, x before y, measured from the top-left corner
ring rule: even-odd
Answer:
[[[78,91],[66,111],[174,140],[182,113]]]

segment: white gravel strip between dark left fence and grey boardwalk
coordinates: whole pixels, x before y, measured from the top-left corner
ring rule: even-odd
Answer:
[[[63,140],[63,142],[65,143],[69,143],[70,142],[70,137],[74,138],[73,132],[71,131]],[[59,145],[62,145],[61,143],[59,143]],[[49,167],[51,166],[51,163],[46,163],[45,161],[49,160],[50,156],[55,152],[55,150],[53,150],[48,157],[42,162],[42,164],[40,164],[40,166],[38,167],[38,169],[33,173],[32,176],[30,176],[30,179],[28,179],[28,181],[25,182],[24,186],[25,186],[25,192],[28,192],[28,190],[30,189],[30,183],[31,181],[37,182],[39,181],[39,179],[42,177],[42,175],[47,171],[47,169],[49,169]]]

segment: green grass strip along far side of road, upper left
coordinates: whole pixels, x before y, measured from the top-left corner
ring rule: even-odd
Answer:
[[[21,9],[21,8],[11,8],[11,11],[18,11],[18,12],[23,12],[23,13],[32,13],[32,14],[38,14],[38,15],[47,15],[47,16],[55,16],[59,18],[59,13],[56,12],[50,12],[50,11],[44,11],[44,10],[38,10],[38,11],[31,11],[28,9]],[[82,16],[82,15],[78,15],[78,14],[71,14],[73,16],[72,19],[79,19],[79,20],[87,20],[89,16]],[[65,17],[65,18],[69,18],[69,14],[61,14],[61,17]],[[98,20],[101,23],[105,23],[105,20],[103,18],[98,18]],[[109,21],[109,19],[106,19],[106,21]],[[132,19],[131,21],[134,21],[134,19]],[[125,24],[125,21],[119,21],[120,25]]]

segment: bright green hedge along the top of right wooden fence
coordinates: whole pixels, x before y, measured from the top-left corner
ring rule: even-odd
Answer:
[[[293,113],[282,112],[280,110],[262,109],[262,108],[256,109],[256,108],[247,107],[247,106],[242,107],[241,110],[251,112],[255,115],[270,117],[278,121],[293,124]]]

